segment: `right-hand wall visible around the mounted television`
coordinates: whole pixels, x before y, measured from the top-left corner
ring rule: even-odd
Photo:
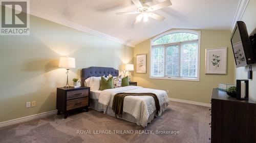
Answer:
[[[249,35],[256,33],[256,0],[250,0],[241,21],[244,21]],[[240,67],[236,69],[237,79],[247,79],[248,67]],[[252,79],[249,80],[249,97],[256,101],[256,64],[252,65]]]

